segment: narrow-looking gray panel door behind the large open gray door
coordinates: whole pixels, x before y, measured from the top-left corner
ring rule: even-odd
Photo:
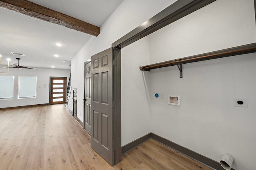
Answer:
[[[92,84],[91,63],[84,66],[84,129],[91,135],[91,84]]]

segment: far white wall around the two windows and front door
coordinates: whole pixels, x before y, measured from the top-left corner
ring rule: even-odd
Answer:
[[[14,76],[14,99],[0,100],[0,108],[29,106],[36,104],[48,104],[50,76],[66,77],[68,81],[68,78],[70,76],[70,70],[52,68],[36,68],[35,70],[10,68],[10,72],[8,74],[0,73],[0,76]],[[18,99],[18,76],[37,76],[36,98]],[[43,84],[47,84],[47,86],[44,87]]]

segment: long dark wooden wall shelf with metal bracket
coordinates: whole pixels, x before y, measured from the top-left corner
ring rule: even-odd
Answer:
[[[199,55],[193,55],[190,57],[184,57],[180,59],[165,61],[162,63],[140,66],[140,70],[150,71],[151,69],[155,69],[155,68],[162,68],[162,67],[177,65],[180,70],[180,78],[182,78],[182,64],[193,63],[193,62],[204,61],[204,60],[211,60],[211,59],[218,59],[223,57],[231,57],[235,55],[242,55],[242,54],[255,53],[255,52],[256,52],[256,43],[252,43],[252,44],[242,45],[238,47],[223,49],[219,51],[213,51],[210,53],[204,53]]]

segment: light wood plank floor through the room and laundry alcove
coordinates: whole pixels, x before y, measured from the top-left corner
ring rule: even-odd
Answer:
[[[0,110],[0,170],[210,170],[149,140],[110,166],[64,104]]]

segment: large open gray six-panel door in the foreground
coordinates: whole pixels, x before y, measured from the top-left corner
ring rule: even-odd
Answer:
[[[112,48],[92,56],[91,147],[114,165]]]

